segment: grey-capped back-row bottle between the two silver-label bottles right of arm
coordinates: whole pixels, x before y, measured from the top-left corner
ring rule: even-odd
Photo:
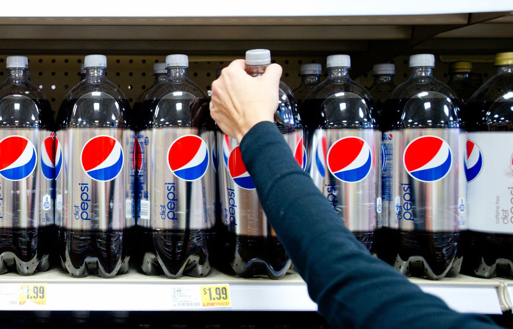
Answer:
[[[381,113],[388,95],[396,89],[393,76],[396,75],[396,66],[389,63],[374,64],[372,66],[374,82],[369,87],[369,92],[374,99],[374,108]]]

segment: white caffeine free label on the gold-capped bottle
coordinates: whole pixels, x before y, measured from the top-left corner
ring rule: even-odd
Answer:
[[[513,133],[469,132],[468,228],[513,233]]]

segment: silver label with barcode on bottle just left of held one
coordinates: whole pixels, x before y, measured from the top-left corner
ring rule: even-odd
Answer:
[[[138,136],[140,217],[154,229],[210,229],[215,224],[214,132],[154,128]]]

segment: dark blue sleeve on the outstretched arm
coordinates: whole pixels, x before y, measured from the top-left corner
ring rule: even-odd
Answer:
[[[372,257],[295,162],[273,123],[251,128],[241,151],[269,222],[333,329],[498,328],[486,316],[452,311]]]

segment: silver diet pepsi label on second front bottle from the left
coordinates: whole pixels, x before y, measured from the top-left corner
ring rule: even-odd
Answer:
[[[121,230],[134,225],[126,217],[126,195],[131,164],[131,131],[121,128],[70,128],[63,147],[64,165],[69,173],[63,178],[67,195],[62,223],[66,228],[80,230]],[[62,139],[61,139],[62,142]],[[59,181],[59,180],[57,180]],[[58,191],[57,193],[59,193]]]

